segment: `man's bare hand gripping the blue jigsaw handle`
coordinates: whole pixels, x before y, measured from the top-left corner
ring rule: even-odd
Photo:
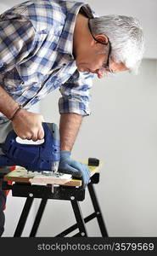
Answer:
[[[12,125],[18,137],[36,142],[44,137],[43,121],[41,114],[20,109],[20,112],[14,117]]]

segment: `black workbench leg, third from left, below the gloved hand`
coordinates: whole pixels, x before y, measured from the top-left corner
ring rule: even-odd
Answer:
[[[71,202],[73,211],[75,213],[76,223],[77,223],[77,227],[79,229],[79,233],[77,233],[75,236],[85,236],[86,237],[87,229],[86,229],[84,218],[82,217],[81,207],[79,205],[79,202],[76,200],[71,200],[70,202]]]

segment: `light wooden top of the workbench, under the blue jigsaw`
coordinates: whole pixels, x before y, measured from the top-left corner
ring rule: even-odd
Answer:
[[[87,161],[81,161],[87,164]],[[91,171],[91,177],[95,172],[98,172],[102,163],[99,166],[88,166]],[[16,169],[12,172],[9,172],[3,177],[4,181],[7,182],[18,182],[18,183],[31,183],[31,184],[58,184],[66,186],[81,186],[80,179],[72,179],[70,175],[64,177],[48,177],[47,175],[42,175],[38,172],[27,172],[24,167],[16,166]]]

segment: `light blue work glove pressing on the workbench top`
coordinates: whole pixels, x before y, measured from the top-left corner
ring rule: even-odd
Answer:
[[[89,168],[81,162],[72,160],[70,151],[60,151],[59,172],[71,174],[73,177],[81,177],[83,189],[90,182]]]

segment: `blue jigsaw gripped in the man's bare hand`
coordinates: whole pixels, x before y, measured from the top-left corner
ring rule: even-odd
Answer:
[[[17,142],[14,130],[8,132],[2,145],[0,166],[23,166],[31,172],[57,172],[60,159],[59,130],[54,123],[42,123],[44,142],[22,144]]]

